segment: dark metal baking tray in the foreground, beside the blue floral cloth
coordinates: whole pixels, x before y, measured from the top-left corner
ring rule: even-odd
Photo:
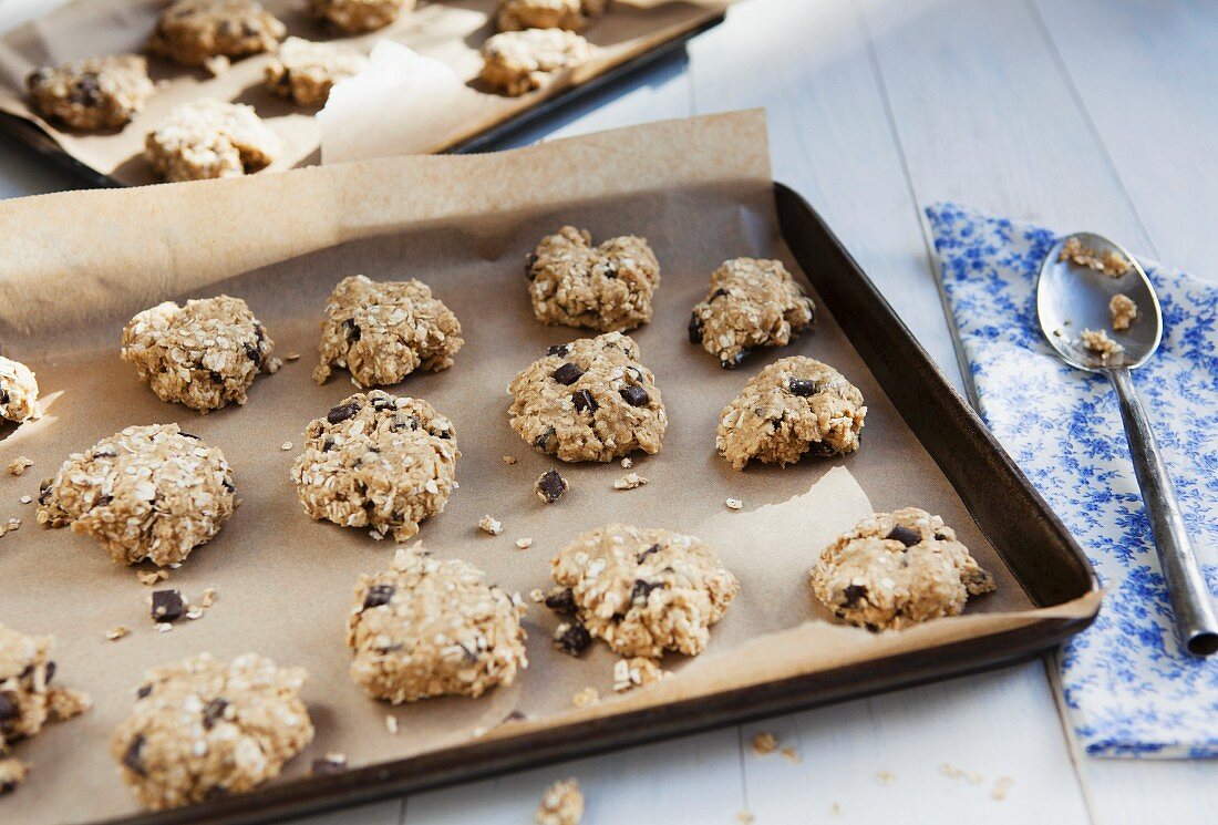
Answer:
[[[782,236],[909,427],[1037,607],[1099,587],[1062,523],[918,345],[850,253],[798,194],[775,184]],[[1094,615],[1015,630],[806,676],[625,712],[510,738],[473,742],[333,776],[276,785],[206,806],[111,820],[117,825],[236,825],[353,806],[571,757],[732,725],[1030,659]]]

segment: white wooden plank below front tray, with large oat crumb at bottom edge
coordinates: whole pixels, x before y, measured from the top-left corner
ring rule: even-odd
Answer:
[[[542,791],[568,776],[583,790],[590,824],[731,823],[744,806],[733,728],[419,793],[402,825],[529,823]]]

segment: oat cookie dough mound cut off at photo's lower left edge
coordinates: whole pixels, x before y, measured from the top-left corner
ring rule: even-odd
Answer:
[[[16,790],[28,770],[13,745],[37,735],[48,721],[71,719],[91,704],[85,693],[51,687],[50,651],[49,637],[0,624],[0,796]]]

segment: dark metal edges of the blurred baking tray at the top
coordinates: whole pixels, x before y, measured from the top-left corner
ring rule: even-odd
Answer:
[[[637,54],[630,54],[624,60],[610,62],[594,74],[582,78],[572,84],[560,83],[553,88],[543,90],[542,94],[533,94],[533,102],[504,119],[487,124],[476,129],[473,134],[458,139],[456,143],[440,149],[440,152],[479,152],[492,149],[496,144],[519,134],[521,130],[538,122],[554,117],[560,111],[569,108],[574,104],[586,100],[592,95],[605,91],[613,85],[628,82],[646,73],[655,63],[681,54],[686,44],[698,34],[711,29],[723,22],[726,12],[722,10],[705,10],[699,17],[691,21],[688,28],[671,30],[671,37],[660,40],[649,49]],[[375,35],[375,33],[373,33]],[[2,35],[2,33],[0,33]],[[180,71],[180,69],[179,69]],[[313,110],[302,108],[301,112]],[[41,128],[37,122],[0,111],[0,130],[5,132],[16,141],[32,149],[45,158],[51,166],[63,169],[78,177],[82,182],[91,186],[124,186],[130,185],[113,175],[106,174],[89,166],[89,163],[74,157]],[[301,161],[301,165],[315,162],[315,151],[309,157]]]

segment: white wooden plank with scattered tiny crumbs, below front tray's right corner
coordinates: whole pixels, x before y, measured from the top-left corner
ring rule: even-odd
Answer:
[[[745,726],[792,746],[748,748],[749,808],[759,823],[1086,823],[1040,664]],[[799,803],[797,807],[797,802]]]

